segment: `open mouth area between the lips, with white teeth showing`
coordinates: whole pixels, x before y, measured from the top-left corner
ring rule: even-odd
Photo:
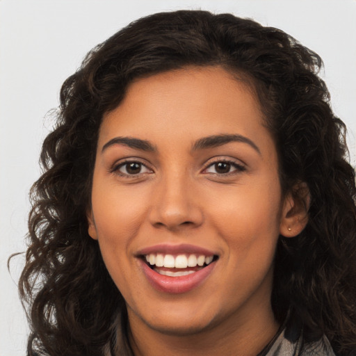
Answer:
[[[191,275],[207,267],[218,259],[217,255],[204,254],[145,254],[142,256],[147,266],[160,275],[181,277]]]

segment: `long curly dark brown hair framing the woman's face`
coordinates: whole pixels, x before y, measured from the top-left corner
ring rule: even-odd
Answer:
[[[318,77],[322,64],[283,31],[195,10],[138,19],[90,51],[60,91],[56,127],[42,146],[44,173],[31,189],[19,284],[31,325],[27,355],[114,353],[118,318],[120,355],[130,355],[124,300],[88,236],[98,131],[131,81],[187,65],[224,67],[250,83],[275,138],[284,193],[298,181],[309,188],[307,227],[277,245],[275,317],[282,323],[289,311],[305,339],[325,334],[337,354],[355,352],[355,171],[346,127]]]

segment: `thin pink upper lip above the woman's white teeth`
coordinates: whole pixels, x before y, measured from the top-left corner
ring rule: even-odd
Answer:
[[[159,245],[149,246],[143,248],[137,252],[138,256],[145,254],[203,254],[204,256],[213,256],[217,255],[216,252],[208,250],[207,248],[202,248],[196,245],[189,245],[187,243],[181,243],[179,245],[169,245],[167,243],[161,243]]]

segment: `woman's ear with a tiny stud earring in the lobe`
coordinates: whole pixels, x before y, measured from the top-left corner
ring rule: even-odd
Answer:
[[[310,193],[306,183],[300,182],[293,186],[284,197],[280,234],[294,237],[300,234],[308,223]]]

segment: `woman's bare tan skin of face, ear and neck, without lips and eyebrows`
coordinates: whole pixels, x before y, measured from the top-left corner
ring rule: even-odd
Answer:
[[[201,138],[246,142],[192,149]],[[154,151],[106,145],[149,140]],[[106,147],[103,150],[104,145]],[[128,174],[125,160],[143,163]],[[218,161],[230,161],[218,174]],[[253,91],[220,67],[188,67],[139,79],[106,113],[92,183],[88,232],[127,302],[136,355],[256,355],[279,325],[270,306],[279,234],[305,227],[305,209],[282,196],[277,151]],[[186,293],[157,291],[137,252],[189,243],[219,258]]]

